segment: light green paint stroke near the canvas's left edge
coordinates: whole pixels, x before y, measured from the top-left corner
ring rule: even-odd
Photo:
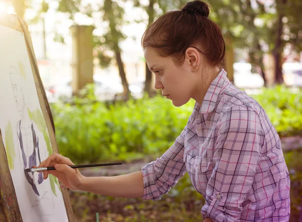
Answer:
[[[13,127],[11,121],[5,127],[5,148],[8,157],[8,163],[10,169],[14,169],[14,162],[16,157],[15,145],[14,145],[14,136],[13,136]]]

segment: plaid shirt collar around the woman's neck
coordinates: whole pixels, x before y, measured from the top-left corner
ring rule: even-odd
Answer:
[[[207,92],[205,93],[202,104],[200,105],[198,102],[195,103],[192,113],[193,116],[197,115],[197,112],[200,114],[206,114],[213,111],[218,95],[221,93],[221,88],[225,79],[227,79],[226,72],[224,71],[224,69],[221,69],[219,74],[211,82]]]

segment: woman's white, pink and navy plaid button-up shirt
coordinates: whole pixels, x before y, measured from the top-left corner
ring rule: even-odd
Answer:
[[[143,199],[159,200],[188,172],[214,221],[288,221],[289,174],[265,111],[222,69],[163,156],[145,165]]]

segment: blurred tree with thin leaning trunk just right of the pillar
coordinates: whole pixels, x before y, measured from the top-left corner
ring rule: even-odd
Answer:
[[[93,6],[90,4],[84,7],[81,0],[60,0],[58,11],[67,13],[69,18],[73,21],[76,13],[82,13],[88,17],[93,17],[96,13],[102,15],[102,22],[108,24],[108,27],[102,36],[96,36],[95,38],[96,52],[102,67],[108,67],[113,61],[113,57],[115,58],[119,75],[124,86],[123,98],[125,100],[129,99],[131,94],[126,79],[124,63],[121,57],[122,50],[119,47],[120,41],[126,38],[120,30],[122,25],[126,24],[123,8],[113,0],[105,0],[103,5],[99,5],[96,10],[93,9]],[[111,56],[110,52],[112,52],[114,56]]]

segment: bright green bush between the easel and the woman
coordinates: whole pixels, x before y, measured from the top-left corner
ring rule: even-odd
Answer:
[[[76,163],[141,158],[169,148],[185,127],[194,102],[176,108],[160,96],[74,105],[52,104],[60,153]]]

